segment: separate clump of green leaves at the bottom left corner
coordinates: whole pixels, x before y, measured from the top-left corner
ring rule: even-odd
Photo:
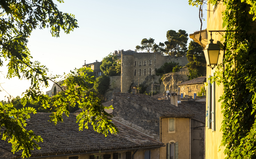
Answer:
[[[12,144],[12,152],[23,150],[22,155],[31,153],[33,148],[40,149],[38,142],[42,142],[41,136],[37,136],[32,130],[26,130],[26,119],[30,118],[30,113],[35,114],[36,110],[31,107],[22,109],[14,108],[12,103],[3,105],[0,103],[0,126],[5,127],[1,132],[2,140],[7,140]]]

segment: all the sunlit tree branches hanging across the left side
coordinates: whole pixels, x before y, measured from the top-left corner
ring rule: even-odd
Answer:
[[[31,82],[21,98],[21,104],[25,106],[32,99],[40,101],[42,107],[47,108],[52,102],[55,113],[51,115],[50,121],[57,124],[63,121],[62,115],[69,115],[69,107],[75,107],[78,103],[78,107],[84,110],[77,116],[79,130],[88,128],[87,124],[90,122],[97,132],[105,135],[108,132],[116,133],[117,129],[110,122],[110,115],[104,111],[106,107],[101,105],[99,98],[93,92],[85,94],[87,83],[92,83],[93,80],[87,73],[80,73],[84,69],[75,69],[64,76],[49,75],[44,65],[32,61],[27,47],[28,37],[33,29],[49,28],[52,36],[59,37],[61,29],[68,34],[78,27],[75,16],[59,11],[52,0],[1,0],[0,10],[0,66],[3,65],[3,60],[7,61],[7,78],[18,77]],[[57,78],[64,79],[62,85],[65,90],[62,91],[66,96],[57,94],[51,99],[41,92],[40,86],[48,87],[49,80],[57,84]],[[40,149],[38,142],[43,140],[31,130],[25,129],[25,119],[30,118],[29,113],[36,113],[36,109],[17,109],[12,103],[0,103],[0,127],[5,127],[5,131],[1,133],[2,139],[8,139],[13,145],[12,152],[22,150],[23,157],[29,157],[33,148]]]

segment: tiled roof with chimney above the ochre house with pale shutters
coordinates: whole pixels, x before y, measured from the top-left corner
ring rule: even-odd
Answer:
[[[115,93],[113,94],[114,105],[115,100],[118,100],[118,98],[123,98],[140,106],[153,109],[162,116],[191,117],[205,123],[205,102],[181,101],[181,104],[178,104],[176,107],[170,104],[170,100],[158,100],[145,94],[133,95]],[[113,111],[115,111],[115,109]]]

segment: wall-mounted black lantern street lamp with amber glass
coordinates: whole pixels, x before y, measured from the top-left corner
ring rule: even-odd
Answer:
[[[210,44],[207,44],[205,49],[203,50],[206,62],[208,64],[207,66],[209,66],[212,70],[218,64],[220,51],[218,44],[214,44],[213,41],[214,40],[211,38]]]

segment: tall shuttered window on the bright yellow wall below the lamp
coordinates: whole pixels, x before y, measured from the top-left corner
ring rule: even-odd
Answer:
[[[209,76],[210,78],[211,76]],[[212,129],[215,131],[215,82],[210,83],[208,80],[208,110],[206,112],[207,115],[207,123],[208,129]]]

